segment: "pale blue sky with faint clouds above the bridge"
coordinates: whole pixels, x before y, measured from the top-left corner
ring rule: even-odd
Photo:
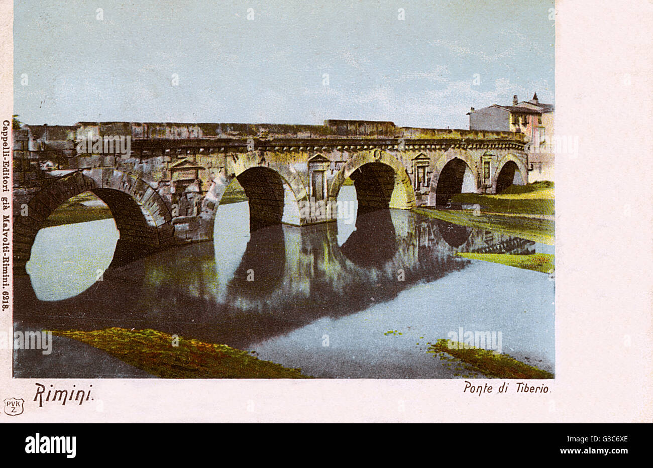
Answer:
[[[553,6],[20,0],[14,114],[53,125],[371,119],[464,129],[470,106],[535,91],[554,102]]]

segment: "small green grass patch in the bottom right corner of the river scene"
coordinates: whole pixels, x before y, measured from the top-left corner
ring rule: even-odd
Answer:
[[[439,339],[428,351],[445,359],[446,354],[464,362],[470,373],[481,373],[498,379],[553,379],[554,375],[534,366],[529,366],[508,354],[494,354],[494,351],[475,348],[450,339]]]

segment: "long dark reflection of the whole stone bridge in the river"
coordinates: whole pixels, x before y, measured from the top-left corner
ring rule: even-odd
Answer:
[[[460,271],[470,260],[458,252],[534,251],[534,242],[400,210],[359,215],[341,246],[336,223],[268,226],[234,238],[229,249],[216,240],[112,268],[103,282],[62,301],[39,301],[18,279],[16,317],[51,329],[155,328],[247,347]]]

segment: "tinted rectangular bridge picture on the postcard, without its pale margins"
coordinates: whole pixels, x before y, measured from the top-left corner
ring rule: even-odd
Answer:
[[[547,392],[555,14],[16,2],[12,377]]]

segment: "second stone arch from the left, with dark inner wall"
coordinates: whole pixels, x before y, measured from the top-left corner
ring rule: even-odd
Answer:
[[[291,171],[287,165],[268,164],[265,161],[264,155],[261,155],[261,153],[257,151],[250,151],[249,153],[246,153],[244,157],[240,157],[234,162],[228,162],[227,168],[214,176],[211,187],[204,196],[204,200],[202,200],[200,225],[202,225],[202,230],[204,231],[204,235],[208,240],[213,239],[215,213],[217,213],[217,208],[220,205],[220,200],[222,200],[222,196],[224,195],[227,187],[229,187],[229,184],[234,179],[243,176],[243,174],[245,174],[248,170],[257,168],[261,168],[263,171],[269,172],[266,173],[267,176],[264,174],[264,172],[259,172],[259,177],[253,176],[251,177],[251,180],[250,176],[244,176],[246,178],[245,183],[250,187],[249,193],[247,192],[247,187],[243,188],[245,189],[247,198],[250,199],[251,230],[254,230],[255,228],[253,225],[257,225],[256,228],[259,228],[263,227],[264,225],[275,224],[276,219],[278,218],[279,207],[281,207],[281,210],[283,210],[283,203],[285,202],[283,183],[281,184],[281,191],[279,191],[279,183],[278,181],[275,181],[275,176],[272,174],[276,174],[276,177],[278,177],[281,181],[287,183],[293,195],[295,196],[295,200],[298,206],[300,202],[308,203],[308,190],[306,189],[306,185],[304,185],[304,182],[300,178],[299,174]],[[249,174],[251,175],[252,173],[250,172]],[[263,183],[263,190],[257,191],[254,188],[257,182]],[[266,191],[268,192],[267,194]],[[252,213],[252,198],[260,200],[260,203],[255,206],[255,213]],[[264,202],[265,200],[270,202],[268,206],[272,208],[271,210],[266,209],[266,203]],[[261,219],[261,223],[259,223],[259,221],[252,223],[253,214],[255,217]]]

